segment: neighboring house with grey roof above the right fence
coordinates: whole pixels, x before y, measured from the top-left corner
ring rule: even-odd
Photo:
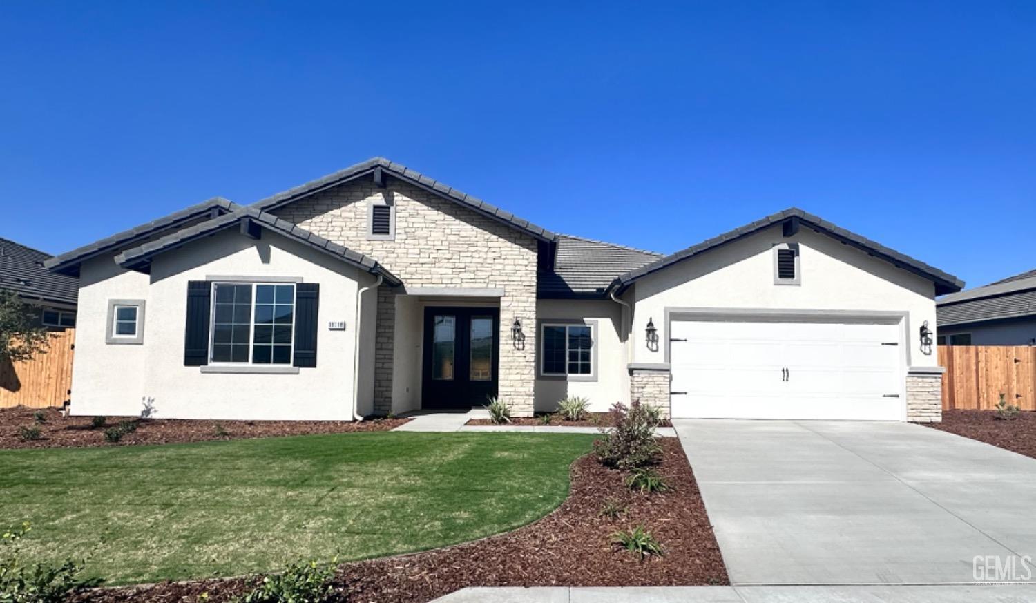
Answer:
[[[1036,345],[1036,270],[941,297],[936,315],[939,345]]]

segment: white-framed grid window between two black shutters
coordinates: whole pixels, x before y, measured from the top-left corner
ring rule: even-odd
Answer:
[[[293,284],[213,283],[212,363],[290,365]]]

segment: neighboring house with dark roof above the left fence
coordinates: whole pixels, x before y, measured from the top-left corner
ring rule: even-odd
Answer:
[[[44,267],[50,254],[0,237],[0,289],[18,293],[38,313],[39,323],[58,329],[76,326],[75,277]]]

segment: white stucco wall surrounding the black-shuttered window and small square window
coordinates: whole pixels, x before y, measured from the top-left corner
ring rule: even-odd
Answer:
[[[77,349],[74,413],[139,414],[146,397],[153,400],[156,418],[351,418],[357,281],[371,283],[371,275],[265,231],[258,241],[228,231],[189,243],[156,257],[150,277],[118,272],[88,290],[81,303],[86,312],[79,328],[88,335],[87,347]],[[184,367],[188,281],[209,276],[319,283],[317,366],[298,374],[209,374]],[[104,344],[109,298],[146,299],[143,345]],[[328,331],[336,320],[346,321],[346,329]]]

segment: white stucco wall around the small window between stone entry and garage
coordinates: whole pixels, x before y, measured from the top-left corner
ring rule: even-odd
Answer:
[[[552,411],[557,401],[568,396],[588,398],[591,410],[604,412],[615,402],[628,403],[630,398],[629,374],[626,369],[625,343],[622,340],[622,307],[614,302],[541,299],[537,304],[537,318],[582,319],[597,323],[597,374],[592,381],[537,378],[536,409]],[[537,334],[539,336],[539,334]],[[502,345],[502,344],[501,344]]]

